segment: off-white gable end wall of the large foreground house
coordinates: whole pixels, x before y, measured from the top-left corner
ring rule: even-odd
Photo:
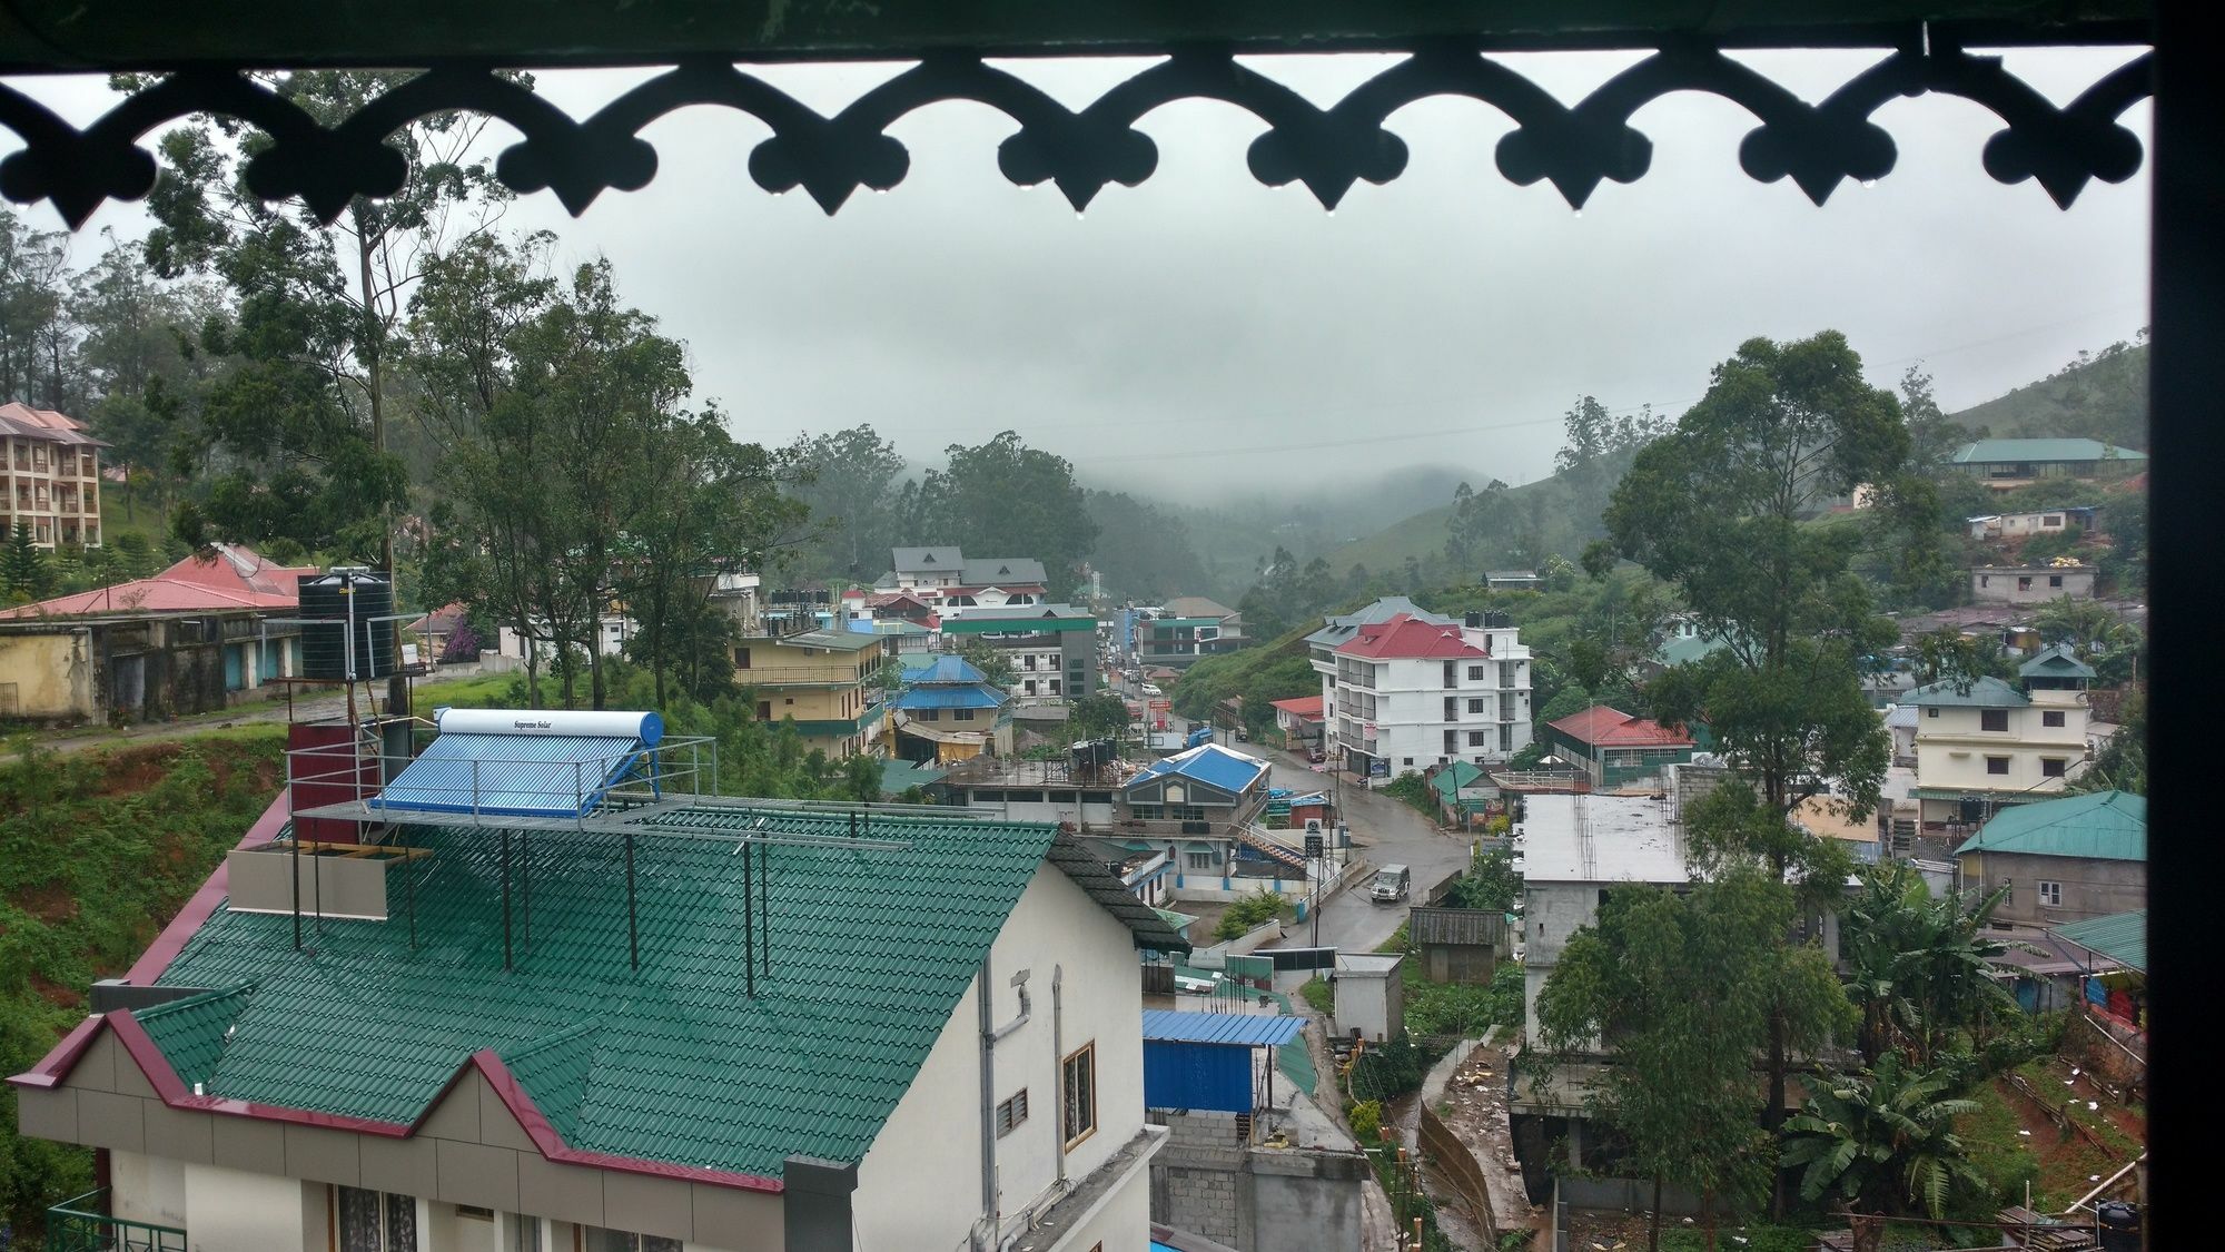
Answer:
[[[1144,1132],[1144,976],[1128,929],[1048,864],[990,945],[990,1020],[1019,1016],[1012,974],[1028,969],[1030,1018],[997,1043],[992,1101],[1028,1092],[1028,1121],[997,1141],[999,1210],[1017,1230],[1026,1210],[1057,1199],[1059,1072],[1064,1052],[1097,1045],[1097,1132],[1066,1154],[1079,1183]],[[1050,982],[1064,969],[1061,1043],[1052,1040]],[[859,1165],[857,1248],[943,1252],[966,1245],[981,1216],[981,1023],[968,985],[926,1065]],[[1148,1172],[1108,1210],[1148,1212]],[[1095,1221],[1092,1221],[1095,1225]],[[1104,1234],[1106,1252],[1141,1252],[1148,1223]],[[1090,1243],[1079,1243],[1088,1248]]]

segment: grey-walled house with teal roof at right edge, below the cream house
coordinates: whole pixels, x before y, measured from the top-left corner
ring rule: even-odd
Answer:
[[[2087,791],[2002,809],[1956,849],[1958,887],[2007,889],[1998,922],[2056,927],[2147,907],[2147,798]]]

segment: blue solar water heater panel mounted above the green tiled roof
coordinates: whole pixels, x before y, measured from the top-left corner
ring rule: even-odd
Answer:
[[[369,806],[578,818],[641,757],[634,737],[449,733],[425,744]]]

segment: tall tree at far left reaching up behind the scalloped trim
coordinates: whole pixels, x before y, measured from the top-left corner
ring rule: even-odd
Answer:
[[[336,127],[407,78],[318,69],[267,85]],[[200,439],[218,475],[207,501],[178,512],[180,537],[287,537],[394,568],[394,515],[407,506],[387,437],[394,339],[423,261],[487,229],[510,196],[487,160],[472,158],[485,125],[478,114],[407,123],[385,140],[400,187],[352,198],[329,227],[303,205],[271,207],[247,192],[247,163],[269,149],[267,134],[200,118],[162,136],[147,258],[162,274],[209,272],[238,299],[238,327],[205,336],[236,370],[202,408]],[[396,679],[392,695],[405,691]]]

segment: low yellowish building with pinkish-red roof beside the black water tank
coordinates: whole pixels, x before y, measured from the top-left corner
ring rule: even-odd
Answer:
[[[216,544],[154,577],[0,610],[0,717],[136,722],[249,700],[303,673],[300,626],[283,619],[316,573]]]

